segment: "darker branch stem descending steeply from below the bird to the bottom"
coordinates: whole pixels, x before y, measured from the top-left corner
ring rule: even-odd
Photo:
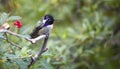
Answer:
[[[28,68],[29,68],[32,64],[34,64],[34,63],[38,60],[38,58],[39,58],[44,52],[46,52],[46,51],[48,50],[48,49],[46,48],[46,44],[47,44],[48,38],[49,38],[49,34],[46,35],[46,37],[45,37],[45,39],[44,39],[44,43],[43,43],[43,45],[42,45],[42,48],[39,50],[39,52],[38,52],[37,54],[35,54],[34,57],[31,57],[31,62],[30,62],[30,64],[28,65]]]

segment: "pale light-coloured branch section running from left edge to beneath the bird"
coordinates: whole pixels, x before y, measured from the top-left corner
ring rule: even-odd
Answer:
[[[24,39],[26,39],[26,40],[28,40],[28,41],[30,41],[30,42],[32,42],[32,43],[36,43],[36,42],[39,41],[40,39],[46,37],[46,35],[41,35],[41,36],[39,36],[39,37],[37,37],[37,38],[30,39],[30,38],[28,38],[28,37],[25,37],[25,36],[23,36],[23,35],[20,35],[20,34],[11,32],[11,31],[9,31],[9,30],[0,30],[0,33],[9,33],[9,34],[14,35],[14,36],[16,36],[16,37],[24,38]]]

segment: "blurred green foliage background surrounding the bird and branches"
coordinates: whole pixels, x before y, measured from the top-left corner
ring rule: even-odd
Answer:
[[[31,69],[120,69],[120,0],[0,0],[2,12],[21,16],[23,27],[11,30],[26,36],[45,14],[55,18],[48,51]],[[22,49],[0,39],[0,69],[26,69],[42,41],[8,38]]]

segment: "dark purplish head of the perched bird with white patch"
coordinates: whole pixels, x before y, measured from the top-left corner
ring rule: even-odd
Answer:
[[[51,15],[47,14],[43,17],[44,26],[52,25],[53,22],[54,22],[54,18]]]

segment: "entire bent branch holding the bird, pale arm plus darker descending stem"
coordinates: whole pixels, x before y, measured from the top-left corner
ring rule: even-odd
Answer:
[[[44,53],[46,52],[48,49],[46,48],[46,44],[47,44],[47,41],[48,41],[48,38],[49,38],[49,34],[48,35],[41,35],[41,36],[38,36],[37,38],[34,38],[34,39],[30,39],[28,37],[25,37],[25,36],[22,36],[20,34],[17,34],[17,33],[14,33],[14,32],[11,32],[9,30],[0,30],[0,33],[8,33],[8,34],[11,34],[13,36],[16,36],[16,37],[19,37],[19,38],[24,38],[28,41],[31,41],[32,43],[36,43],[38,40],[44,38],[44,43],[42,45],[42,48],[40,48],[39,52],[37,54],[35,54],[35,56],[31,57],[31,62],[30,64],[28,65],[28,67],[30,67],[32,64],[34,64],[38,58]],[[8,40],[7,40],[8,41]],[[8,41],[9,42],[9,41]],[[12,43],[13,44],[13,43]]]

